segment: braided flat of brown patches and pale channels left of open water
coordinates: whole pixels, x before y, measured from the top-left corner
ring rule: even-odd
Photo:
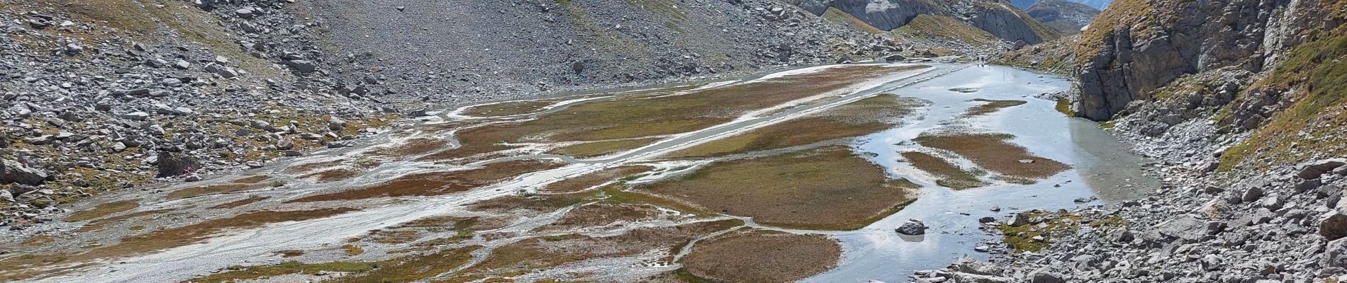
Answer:
[[[841,245],[820,233],[754,220],[842,229],[909,201],[904,193],[913,188],[911,182],[889,180],[846,146],[808,144],[900,123],[911,107],[892,95],[874,99],[874,89],[932,70],[827,66],[734,82],[469,106],[446,111],[455,118],[407,126],[368,144],[284,160],[242,176],[77,204],[71,208],[77,213],[62,224],[67,228],[34,235],[0,256],[5,263],[0,276],[38,282],[803,279],[836,266]],[[722,153],[665,157],[799,118],[862,130],[735,149],[740,157],[734,158]],[[800,150],[758,153],[783,146]],[[812,160],[820,168],[781,172],[785,168],[777,158]],[[757,170],[815,184],[795,192],[845,176],[859,181],[834,193],[882,189],[888,197],[831,199],[867,203],[811,219],[806,216],[810,209],[828,204],[800,204],[796,212],[762,204],[730,213],[723,204],[706,201],[714,194],[660,190],[680,182],[725,181],[696,174]],[[710,248],[698,249],[703,240]],[[735,256],[744,255],[781,256],[781,251],[744,253],[733,248],[738,244],[725,243],[799,244],[811,252],[785,270],[745,274],[764,266],[723,270],[717,263],[742,262]],[[684,268],[684,259],[699,266]],[[626,268],[614,272],[613,267]]]

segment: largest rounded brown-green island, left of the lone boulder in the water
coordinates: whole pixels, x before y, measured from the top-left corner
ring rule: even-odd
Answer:
[[[707,165],[641,188],[765,225],[857,229],[909,200],[882,168],[847,146]]]

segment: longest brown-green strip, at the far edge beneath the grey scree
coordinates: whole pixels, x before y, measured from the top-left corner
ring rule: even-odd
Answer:
[[[509,149],[500,142],[566,142],[641,138],[686,133],[733,121],[753,110],[839,90],[854,83],[912,70],[843,66],[754,83],[698,90],[683,95],[629,97],[571,106],[517,123],[463,129],[462,146],[422,160],[461,158]]]

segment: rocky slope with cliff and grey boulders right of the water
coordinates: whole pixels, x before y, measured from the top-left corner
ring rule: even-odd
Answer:
[[[1049,247],[1002,244],[990,264],[917,280],[1347,280],[1344,19],[1336,0],[1114,3],[1076,47],[1075,110],[1111,119],[1160,160],[1153,173],[1167,185],[987,225],[1016,231],[1008,239],[1025,229],[1006,227],[1029,227]]]

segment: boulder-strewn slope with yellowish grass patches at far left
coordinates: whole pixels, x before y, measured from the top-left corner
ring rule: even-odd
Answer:
[[[401,111],[330,79],[287,1],[0,0],[0,227],[339,148]],[[369,87],[366,87],[366,84]]]

